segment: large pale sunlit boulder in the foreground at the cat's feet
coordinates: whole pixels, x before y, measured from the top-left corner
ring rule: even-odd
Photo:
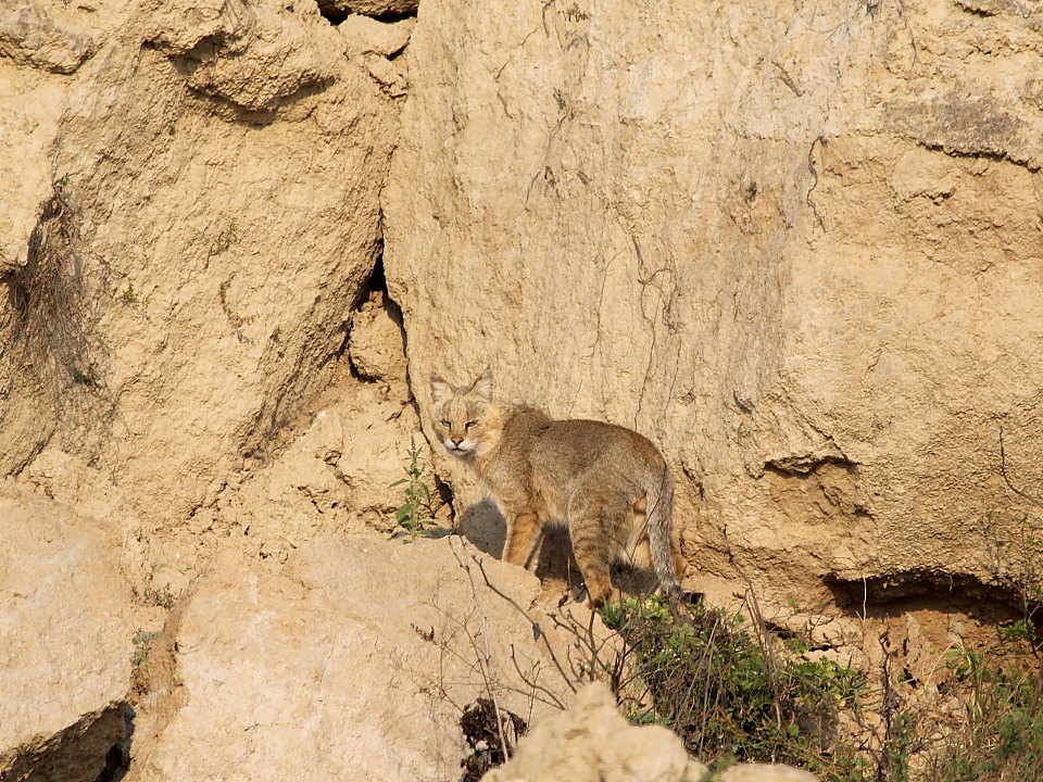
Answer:
[[[467,703],[492,691],[532,718],[569,701],[546,652],[568,666],[567,635],[538,610],[535,633],[478,563],[526,608],[539,582],[474,552],[325,535],[285,575],[218,557],[142,668],[127,781],[458,778]]]

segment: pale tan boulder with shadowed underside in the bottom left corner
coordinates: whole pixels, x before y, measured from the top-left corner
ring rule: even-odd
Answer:
[[[114,537],[0,481],[0,779],[93,782],[128,739],[135,600]]]

